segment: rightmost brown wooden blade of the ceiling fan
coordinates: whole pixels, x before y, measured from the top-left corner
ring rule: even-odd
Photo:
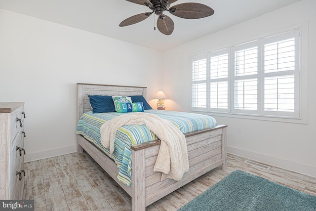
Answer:
[[[201,3],[180,3],[172,6],[169,12],[186,19],[204,18],[214,14],[214,10],[211,7]]]

